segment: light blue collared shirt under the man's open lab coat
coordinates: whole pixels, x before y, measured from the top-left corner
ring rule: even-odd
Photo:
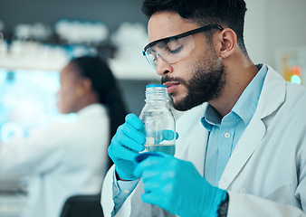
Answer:
[[[218,185],[225,165],[257,107],[268,71],[266,65],[257,67],[261,68],[260,71],[246,87],[230,113],[222,118],[215,108],[208,104],[201,119],[203,126],[209,132],[204,175],[207,182],[214,186]]]

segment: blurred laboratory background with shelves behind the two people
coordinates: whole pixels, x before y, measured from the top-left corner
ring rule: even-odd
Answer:
[[[251,60],[306,86],[306,1],[245,0],[244,41]],[[0,141],[61,119],[55,93],[72,58],[106,58],[129,112],[139,115],[158,75],[142,56],[148,20],[142,0],[0,0]],[[306,112],[306,110],[305,110]],[[176,113],[179,118],[180,113]],[[73,117],[73,114],[72,114]],[[20,177],[0,176],[0,216],[19,216]]]

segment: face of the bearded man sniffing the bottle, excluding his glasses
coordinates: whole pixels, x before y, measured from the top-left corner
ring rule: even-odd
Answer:
[[[177,13],[154,14],[148,22],[149,42],[198,27]],[[182,60],[169,64],[158,58],[157,73],[162,76],[161,82],[167,85],[173,106],[178,110],[192,109],[205,101],[217,99],[225,87],[224,66],[212,43],[203,33],[196,33],[191,40],[195,49]]]

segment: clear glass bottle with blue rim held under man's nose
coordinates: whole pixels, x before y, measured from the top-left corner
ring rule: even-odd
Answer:
[[[176,121],[168,104],[167,86],[147,85],[145,102],[139,116],[146,131],[145,151],[160,151],[174,156]]]

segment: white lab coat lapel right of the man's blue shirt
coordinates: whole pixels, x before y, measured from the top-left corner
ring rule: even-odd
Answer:
[[[246,162],[253,155],[256,147],[259,146],[266,132],[263,118],[271,115],[282,105],[285,99],[285,90],[285,80],[268,66],[268,72],[263,82],[263,90],[258,101],[257,109],[225,166],[225,171],[219,181],[220,188],[228,188],[236,175],[239,174]]]

